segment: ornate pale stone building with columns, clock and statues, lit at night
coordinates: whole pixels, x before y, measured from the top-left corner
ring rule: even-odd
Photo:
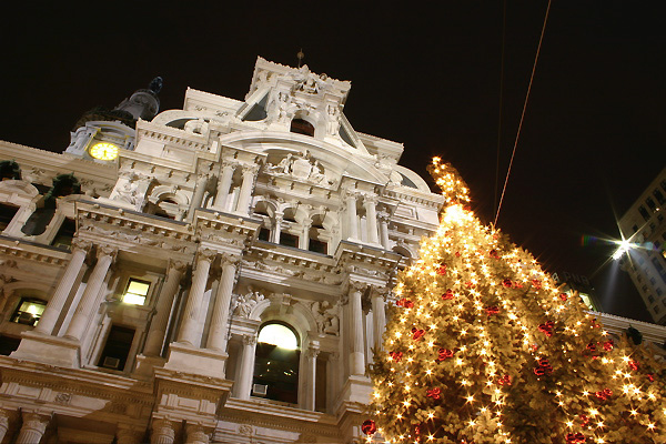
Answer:
[[[350,82],[260,58],[243,101],[159,88],[62,154],[0,142],[0,442],[353,442],[443,198]]]

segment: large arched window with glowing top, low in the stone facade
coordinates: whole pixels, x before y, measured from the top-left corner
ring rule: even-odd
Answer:
[[[299,336],[286,324],[269,322],[259,331],[252,395],[299,402]]]

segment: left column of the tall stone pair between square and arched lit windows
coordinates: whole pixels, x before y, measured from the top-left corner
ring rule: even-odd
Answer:
[[[203,293],[211,270],[211,262],[215,259],[216,252],[212,250],[202,250],[196,258],[196,270],[192,276],[192,286],[188,296],[188,304],[183,313],[183,322],[181,324],[178,342],[194,346],[198,343],[196,331]]]

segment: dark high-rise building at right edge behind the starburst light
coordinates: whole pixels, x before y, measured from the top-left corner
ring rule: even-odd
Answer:
[[[655,322],[666,325],[666,168],[619,220],[632,248],[620,261]]]

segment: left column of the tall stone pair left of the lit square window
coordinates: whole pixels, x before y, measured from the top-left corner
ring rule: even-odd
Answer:
[[[36,332],[43,334],[51,334],[53,332],[53,327],[58,322],[58,317],[62,312],[67,297],[77,282],[77,278],[83,266],[83,261],[85,261],[85,256],[91,246],[92,244],[88,241],[78,238],[72,240],[72,256],[70,258],[67,269],[64,269],[64,274],[60,278],[56,293],[53,293],[44,313],[34,327]]]

